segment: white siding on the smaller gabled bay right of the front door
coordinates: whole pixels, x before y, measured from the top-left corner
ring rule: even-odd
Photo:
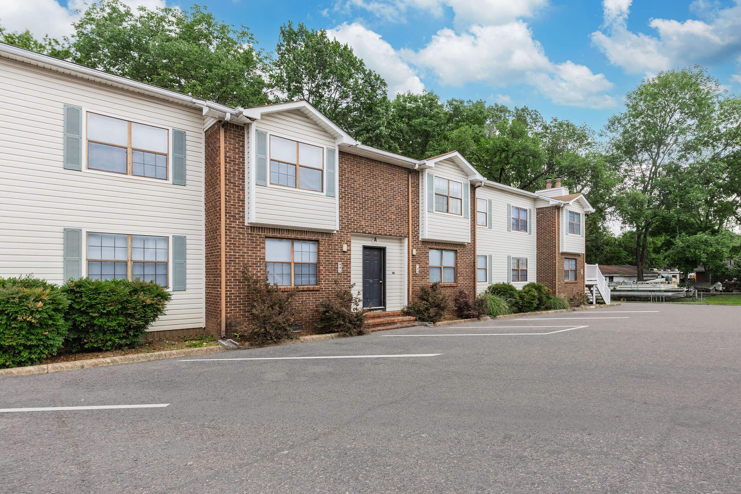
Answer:
[[[425,191],[428,190],[427,180],[431,173],[436,178],[446,178],[451,181],[457,181],[460,184],[468,183],[468,176],[456,164],[443,160],[438,161],[433,168],[422,170],[421,175],[424,177],[423,190]],[[463,190],[466,190],[465,186]],[[468,190],[470,193],[471,188],[468,187]],[[422,197],[426,198],[427,194]],[[471,207],[471,201],[464,200],[462,204],[468,204],[468,207]],[[471,241],[471,218],[467,218],[467,215],[429,211],[426,204],[421,209],[423,221],[422,239],[458,244],[465,244]]]

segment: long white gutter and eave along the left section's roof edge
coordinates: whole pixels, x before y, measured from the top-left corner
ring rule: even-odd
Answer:
[[[53,70],[54,72],[64,73],[79,79],[86,79],[88,81],[98,82],[99,84],[118,87],[119,89],[144,94],[156,99],[163,99],[165,101],[182,104],[187,107],[201,108],[203,109],[204,114],[208,109],[210,109],[215,110],[222,118],[226,118],[228,114],[230,118],[233,117],[234,121],[239,121],[240,123],[246,123],[248,121],[238,113],[237,109],[227,107],[226,105],[216,103],[215,101],[194,98],[193,96],[178,93],[177,91],[162,89],[162,87],[145,84],[144,82],[127,79],[126,77],[114,76],[113,74],[103,72],[102,70],[91,69],[84,65],[74,64],[71,61],[56,59],[53,56],[36,53],[35,51],[19,48],[12,44],[0,43],[0,57],[21,61],[25,64]]]

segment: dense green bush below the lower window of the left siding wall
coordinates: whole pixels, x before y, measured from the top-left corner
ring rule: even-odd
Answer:
[[[165,313],[172,295],[154,281],[81,278],[62,286],[70,300],[70,347],[115,350],[136,347],[150,324]]]

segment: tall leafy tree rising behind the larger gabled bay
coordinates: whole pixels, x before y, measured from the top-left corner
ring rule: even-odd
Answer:
[[[366,144],[382,140],[388,115],[386,81],[365,67],[348,44],[325,30],[288,22],[280,28],[270,66],[274,98],[305,99]]]

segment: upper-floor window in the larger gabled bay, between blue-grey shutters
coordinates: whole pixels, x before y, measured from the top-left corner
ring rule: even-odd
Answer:
[[[324,190],[324,150],[319,146],[270,136],[270,183]]]

